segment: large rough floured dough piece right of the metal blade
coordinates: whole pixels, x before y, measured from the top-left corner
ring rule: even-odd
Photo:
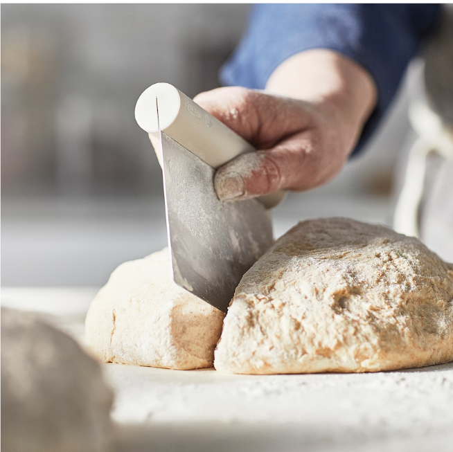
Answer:
[[[453,361],[453,264],[384,226],[292,228],[244,275],[215,368],[375,372]]]

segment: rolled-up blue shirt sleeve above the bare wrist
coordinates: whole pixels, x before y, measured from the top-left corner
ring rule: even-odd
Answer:
[[[377,106],[353,154],[380,122],[407,64],[435,28],[436,4],[263,4],[220,72],[223,84],[264,89],[274,69],[292,55],[328,48],[361,64],[375,80]]]

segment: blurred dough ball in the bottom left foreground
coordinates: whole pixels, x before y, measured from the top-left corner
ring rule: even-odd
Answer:
[[[100,365],[32,314],[1,309],[1,446],[8,452],[101,452],[112,392]]]

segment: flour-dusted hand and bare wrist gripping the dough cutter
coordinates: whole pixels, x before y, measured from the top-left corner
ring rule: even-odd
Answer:
[[[310,190],[332,179],[353,150],[375,98],[373,80],[362,67],[325,50],[283,62],[265,91],[228,87],[199,94],[195,102],[258,149],[217,170],[218,197]]]

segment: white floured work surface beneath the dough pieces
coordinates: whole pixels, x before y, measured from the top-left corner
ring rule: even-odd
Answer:
[[[3,288],[83,343],[95,288]],[[104,364],[118,451],[453,451],[453,363],[252,376]]]

